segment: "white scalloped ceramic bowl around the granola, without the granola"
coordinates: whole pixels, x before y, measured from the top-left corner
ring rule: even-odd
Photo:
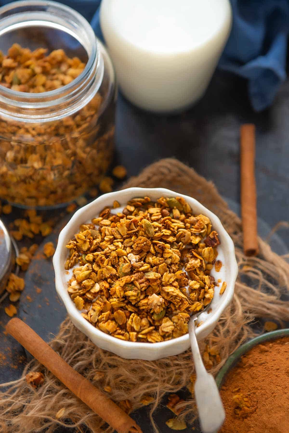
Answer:
[[[216,326],[224,309],[232,301],[238,267],[233,241],[222,226],[221,221],[216,215],[214,215],[214,213],[192,197],[164,188],[128,188],[122,191],[104,194],[86,206],[81,207],[81,209],[75,212],[71,217],[71,220],[66,224],[64,229],[62,229],[58,237],[58,244],[53,257],[53,266],[55,270],[55,285],[58,296],[65,305],[72,323],[74,323],[81,332],[87,335],[96,346],[101,349],[109,350],[122,358],[145,359],[151,361],[166,356],[178,355],[187,350],[190,346],[188,334],[160,343],[134,343],[117,339],[101,330],[98,330],[92,326],[91,323],[85,320],[84,317],[81,316],[81,313],[76,309],[75,304],[71,300],[67,291],[68,275],[65,274],[64,270],[64,264],[68,256],[68,249],[65,248],[65,245],[73,238],[75,233],[78,233],[81,223],[89,221],[97,216],[104,207],[112,206],[114,200],[117,200],[120,204],[126,204],[128,200],[134,197],[144,196],[148,196],[152,200],[157,200],[162,196],[183,197],[192,207],[194,214],[202,213],[210,218],[213,229],[219,234],[221,245],[218,246],[218,259],[222,261],[223,266],[221,271],[218,273],[215,272],[213,268],[212,275],[214,275],[216,280],[221,278],[221,281],[226,281],[227,288],[224,291],[224,294],[220,295],[220,283],[220,286],[215,288],[214,298],[211,301],[211,312],[208,313],[205,311],[198,317],[198,322],[200,323],[203,321],[203,323],[201,323],[201,326],[196,328],[197,338],[203,339],[208,336]]]

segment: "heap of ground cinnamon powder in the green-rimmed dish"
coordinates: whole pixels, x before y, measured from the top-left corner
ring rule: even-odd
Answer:
[[[289,433],[289,337],[244,355],[221,397],[226,420],[219,433]]]

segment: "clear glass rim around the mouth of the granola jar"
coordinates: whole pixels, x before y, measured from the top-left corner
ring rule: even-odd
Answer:
[[[64,86],[55,89],[55,90],[49,90],[46,92],[42,92],[42,93],[29,93],[29,92],[20,92],[18,90],[12,90],[12,89],[8,89],[7,87],[1,86],[0,85],[0,100],[4,99],[5,102],[7,102],[7,100],[10,101],[10,103],[13,101],[13,99],[16,99],[16,103],[19,106],[19,103],[23,103],[23,107],[29,103],[31,101],[33,101],[33,103],[36,104],[36,106],[39,107],[47,107],[47,103],[45,101],[41,101],[43,100],[43,98],[47,99],[47,100],[55,100],[55,103],[57,101],[57,103],[59,103],[59,98],[63,98],[67,95],[69,95],[70,92],[73,92],[75,90],[76,87],[78,87],[78,85],[80,85],[81,83],[83,83],[84,81],[87,81],[89,76],[91,75],[91,71],[93,71],[95,65],[98,63],[98,53],[99,53],[99,49],[98,49],[98,44],[97,44],[97,38],[94,34],[94,31],[91,27],[91,25],[88,23],[88,21],[84,18],[84,16],[82,16],[80,13],[78,13],[76,10],[72,9],[69,6],[66,6],[62,3],[58,3],[55,1],[46,1],[46,0],[19,0],[19,1],[15,1],[13,3],[8,3],[5,6],[0,7],[0,36],[2,34],[5,34],[7,31],[9,31],[9,24],[7,27],[7,22],[10,23],[12,21],[17,21],[16,17],[18,16],[18,20],[20,19],[20,16],[23,16],[25,14],[25,11],[21,11],[19,10],[19,12],[17,12],[17,9],[23,7],[25,8],[31,8],[31,7],[35,7],[36,11],[34,12],[29,12],[29,17],[33,17],[36,16],[35,14],[41,13],[42,15],[42,19],[45,17],[45,15],[51,16],[52,13],[57,13],[58,12],[62,12],[62,14],[64,13],[65,16],[70,16],[71,19],[73,19],[73,22],[75,23],[75,25],[81,25],[82,29],[85,30],[86,33],[86,38],[84,40],[84,33],[81,32],[79,34],[75,32],[71,31],[68,26],[69,23],[65,22],[65,19],[63,17],[59,17],[59,15],[55,16],[55,19],[57,19],[58,21],[62,21],[62,30],[65,31],[65,28],[67,30],[67,33],[70,34],[71,36],[73,36],[85,49],[85,51],[88,54],[88,61],[84,67],[84,70],[81,72],[81,74],[78,75],[78,77],[76,77],[73,81],[71,81],[68,84],[65,84]],[[37,10],[37,7],[39,8],[39,10]],[[41,9],[43,8],[43,9]],[[16,12],[13,13],[13,10],[15,10]],[[10,13],[11,12],[11,13]],[[14,17],[14,19],[12,19]],[[31,21],[31,19],[30,19]],[[34,21],[34,20],[32,20]],[[49,21],[47,21],[48,23]],[[19,23],[21,23],[21,28],[25,28],[25,27],[29,27],[28,25],[25,26],[25,21],[20,21]],[[66,26],[65,26],[66,24]],[[47,26],[49,27],[49,26]],[[5,29],[7,29],[5,31]],[[2,32],[1,32],[2,30]],[[69,31],[70,30],[70,31]],[[73,34],[71,34],[73,33]],[[81,39],[82,38],[82,39]],[[86,43],[85,43],[86,42]],[[88,46],[88,43],[90,44]],[[14,105],[14,104],[13,104]],[[51,106],[51,104],[48,104]]]

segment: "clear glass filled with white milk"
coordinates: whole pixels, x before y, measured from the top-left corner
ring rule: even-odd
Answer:
[[[102,0],[100,17],[123,94],[156,113],[201,98],[232,23],[229,0]]]

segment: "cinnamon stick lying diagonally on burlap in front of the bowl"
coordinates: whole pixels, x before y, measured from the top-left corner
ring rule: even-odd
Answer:
[[[142,433],[129,415],[68,365],[26,323],[11,319],[6,331],[114,430],[118,433]]]

